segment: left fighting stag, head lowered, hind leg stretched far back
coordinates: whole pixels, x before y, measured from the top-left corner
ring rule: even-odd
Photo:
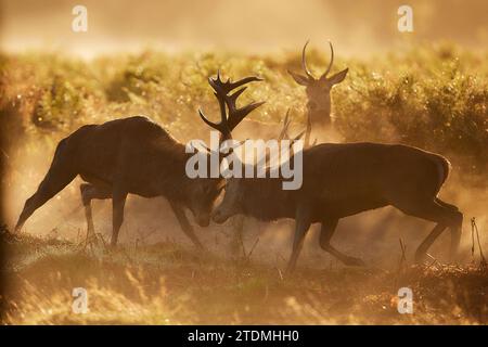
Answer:
[[[222,181],[190,179],[185,175],[185,163],[190,156],[184,144],[146,117],[84,126],[57,144],[51,167],[37,192],[26,201],[15,231],[22,229],[36,209],[80,176],[88,182],[80,185],[88,235],[94,233],[93,198],[112,198],[111,245],[115,246],[127,195],[164,196],[183,232],[202,248],[184,209],[193,213],[201,227],[208,226]]]

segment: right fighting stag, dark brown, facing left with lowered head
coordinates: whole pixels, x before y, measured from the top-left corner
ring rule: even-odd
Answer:
[[[216,91],[220,105],[228,104],[231,108],[232,100],[219,93],[219,89]],[[234,119],[226,115],[224,107],[220,110],[218,125],[201,116],[230,138],[229,125],[233,128],[242,118]],[[448,227],[451,230],[450,255],[455,256],[463,215],[437,196],[450,168],[444,156],[400,144],[319,144],[304,150],[301,167],[303,185],[298,190],[283,190],[282,179],[269,175],[227,179],[223,200],[213,214],[214,221],[222,223],[237,214],[266,221],[295,219],[290,272],[296,266],[307,231],[316,222],[321,223],[320,246],[324,250],[346,265],[363,265],[361,259],[347,256],[331,245],[337,222],[347,216],[391,205],[407,215],[437,223],[416,249],[416,261],[422,261],[429,246]]]

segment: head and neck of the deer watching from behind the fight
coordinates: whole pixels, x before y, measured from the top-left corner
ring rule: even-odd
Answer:
[[[308,41],[304,46],[301,51],[301,67],[304,68],[305,75],[297,74],[288,70],[293,79],[304,86],[307,93],[307,111],[309,119],[313,123],[313,127],[317,129],[328,128],[331,124],[331,90],[332,87],[342,82],[346,78],[348,68],[342,72],[329,76],[332,65],[334,64],[334,48],[331,41],[329,41],[331,47],[331,62],[329,63],[328,69],[319,78],[313,77],[310,69],[307,67],[306,50]]]

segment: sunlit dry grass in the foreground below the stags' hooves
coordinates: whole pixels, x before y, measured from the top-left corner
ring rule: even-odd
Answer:
[[[7,324],[486,324],[488,273],[476,266],[298,268],[196,255],[178,244],[84,249],[5,236]],[[74,287],[89,312],[72,312]],[[414,293],[399,314],[397,291]]]

